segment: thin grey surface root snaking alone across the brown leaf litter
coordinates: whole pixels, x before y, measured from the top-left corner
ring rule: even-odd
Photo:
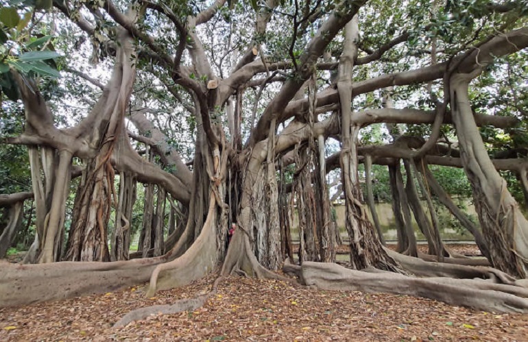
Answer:
[[[173,304],[167,304],[167,305],[153,305],[153,306],[147,306],[146,308],[139,308],[136,310],[130,311],[130,313],[124,315],[117,321],[113,328],[120,328],[123,326],[128,325],[128,323],[132,321],[139,321],[141,319],[145,319],[149,317],[150,315],[172,315],[175,313],[181,313],[182,311],[192,311],[196,310],[197,308],[200,308],[205,304],[205,302],[213,295],[217,293],[218,285],[220,282],[224,280],[224,277],[219,277],[217,280],[215,280],[213,284],[213,289],[211,292],[207,293],[206,295],[200,295],[195,298],[186,298],[183,300],[177,300]]]

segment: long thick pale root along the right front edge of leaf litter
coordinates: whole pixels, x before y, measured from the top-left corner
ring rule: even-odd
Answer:
[[[297,273],[303,284],[317,289],[413,295],[479,310],[528,313],[528,292],[517,286],[488,284],[481,280],[412,278],[398,273],[355,271],[322,262],[287,265],[285,271]]]

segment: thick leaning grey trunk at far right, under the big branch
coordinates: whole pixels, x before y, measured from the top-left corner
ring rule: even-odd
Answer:
[[[469,102],[468,84],[478,75],[451,77],[451,111],[461,147],[464,171],[471,183],[475,208],[492,265],[512,276],[528,276],[528,221],[495,170],[479,134]]]

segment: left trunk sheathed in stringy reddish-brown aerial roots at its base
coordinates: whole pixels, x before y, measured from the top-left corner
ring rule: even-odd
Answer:
[[[132,12],[134,11],[130,11],[129,14],[135,21],[137,16],[135,12]],[[108,219],[112,199],[117,205],[112,155],[115,149],[119,149],[123,139],[128,140],[124,130],[124,117],[136,77],[136,61],[131,37],[124,30],[120,30],[118,38],[119,49],[117,49],[117,61],[110,80],[111,88],[106,89],[108,98],[101,97],[102,101],[98,101],[93,108],[91,119],[95,122],[91,124],[94,132],[86,137],[91,145],[98,148],[95,156],[86,158],[84,182],[75,198],[75,215],[70,230],[67,260],[110,260]],[[90,123],[85,122],[84,124]],[[76,128],[87,129],[88,127],[84,127],[82,123]]]

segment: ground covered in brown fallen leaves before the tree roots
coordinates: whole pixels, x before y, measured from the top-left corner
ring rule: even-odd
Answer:
[[[0,309],[0,341],[528,341],[528,315],[500,315],[405,295],[316,291],[226,278],[193,312],[115,329],[134,308],[208,293],[215,276],[145,298],[144,286]]]

